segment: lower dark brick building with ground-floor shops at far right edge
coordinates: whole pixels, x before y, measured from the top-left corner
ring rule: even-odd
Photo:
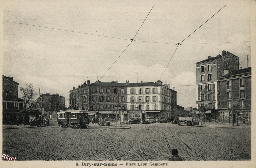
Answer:
[[[241,67],[242,68],[242,67]],[[251,121],[251,67],[218,78],[218,120],[236,122],[232,108],[240,106],[238,122]]]

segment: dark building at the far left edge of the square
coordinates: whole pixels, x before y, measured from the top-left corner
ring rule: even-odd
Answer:
[[[19,83],[13,77],[3,75],[3,124],[15,124],[17,118],[23,121],[23,99],[19,98]]]

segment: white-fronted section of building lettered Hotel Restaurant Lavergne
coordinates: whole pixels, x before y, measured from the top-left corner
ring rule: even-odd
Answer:
[[[128,118],[168,117],[176,111],[176,91],[161,80],[127,83]]]

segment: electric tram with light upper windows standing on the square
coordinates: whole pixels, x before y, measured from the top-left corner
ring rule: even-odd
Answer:
[[[60,110],[57,113],[59,127],[87,128],[89,126],[89,111],[81,109]]]

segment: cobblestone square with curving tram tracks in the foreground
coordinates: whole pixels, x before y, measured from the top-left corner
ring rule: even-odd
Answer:
[[[129,126],[132,128],[109,129],[90,124],[89,129],[71,129],[60,128],[51,121],[49,127],[5,127],[3,153],[17,160],[168,160],[172,156],[168,141],[183,160],[251,159],[250,127],[171,123]]]

